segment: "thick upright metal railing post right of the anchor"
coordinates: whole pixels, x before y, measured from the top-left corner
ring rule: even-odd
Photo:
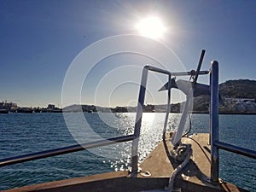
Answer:
[[[218,61],[212,61],[211,70],[211,182],[218,183]]]

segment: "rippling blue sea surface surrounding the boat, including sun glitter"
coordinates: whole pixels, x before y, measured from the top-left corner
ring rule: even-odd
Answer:
[[[135,113],[9,113],[0,114],[0,159],[51,148],[131,134]],[[177,128],[178,114],[168,129]],[[143,113],[140,162],[160,142],[165,113]],[[192,114],[191,134],[209,131],[207,114]],[[256,148],[255,115],[220,115],[220,141]],[[189,123],[186,127],[189,129]],[[0,190],[44,183],[131,166],[131,142],[0,167]],[[220,177],[256,191],[256,160],[220,150]]]

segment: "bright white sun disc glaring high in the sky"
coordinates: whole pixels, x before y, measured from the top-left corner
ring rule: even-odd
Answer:
[[[149,16],[137,22],[136,28],[138,32],[148,38],[163,38],[166,32],[166,26],[158,17]]]

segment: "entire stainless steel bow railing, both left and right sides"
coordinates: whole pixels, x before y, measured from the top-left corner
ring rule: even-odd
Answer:
[[[146,93],[146,85],[148,79],[148,72],[152,71],[155,73],[163,73],[168,76],[168,87],[171,86],[171,77],[172,76],[184,76],[184,75],[193,75],[193,72],[183,72],[183,73],[171,73],[166,70],[145,66],[143,67],[143,75],[141,79],[140,91],[137,102],[137,115],[134,128],[134,134],[122,137],[113,137],[108,139],[102,139],[99,141],[91,143],[83,143],[72,145],[64,148],[55,148],[50,150],[41,151],[38,153],[25,154],[20,156],[15,156],[11,158],[5,158],[0,160],[0,167],[14,165],[21,162],[26,162],[29,160],[38,160],[50,156],[68,154],[77,152],[80,150],[86,150],[90,148],[102,147],[110,145],[113,143],[122,143],[122,142],[132,142],[131,148],[131,175],[137,175],[138,170],[138,143],[141,131],[141,123],[143,117],[143,105]],[[208,74],[209,71],[199,71],[198,75]],[[218,149],[224,149],[236,154],[242,154],[247,157],[256,159],[256,151],[253,151],[248,148],[241,148],[239,146],[231,145],[229,143],[223,143],[218,141],[218,61],[212,61],[212,67],[210,70],[210,89],[211,89],[211,105],[210,105],[210,143],[211,143],[211,181],[212,183],[218,183],[218,160],[219,154]],[[166,110],[166,119],[164,124],[164,131],[166,130],[168,115],[170,113],[170,101],[171,101],[171,89],[168,89],[168,98],[167,98],[167,110]]]

